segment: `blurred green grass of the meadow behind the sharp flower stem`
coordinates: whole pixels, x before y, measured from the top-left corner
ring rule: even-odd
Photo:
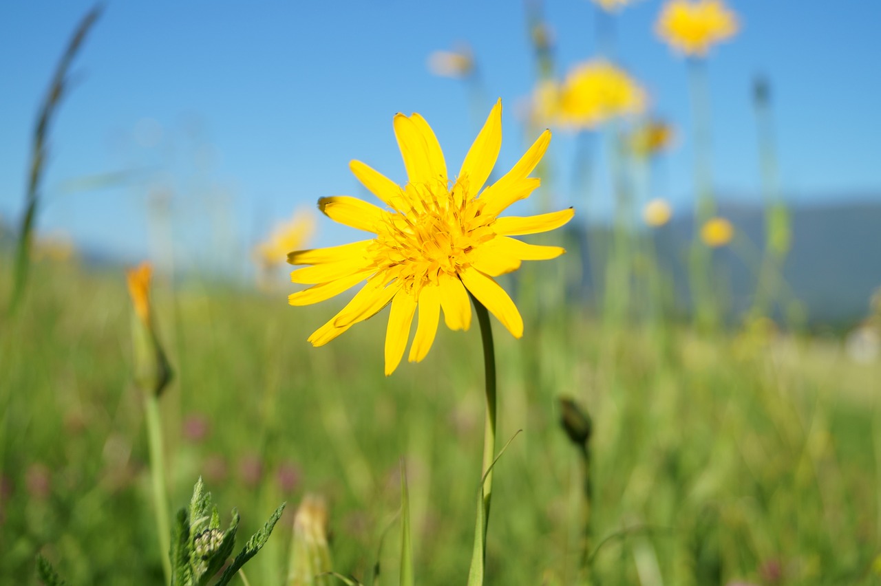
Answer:
[[[239,509],[242,535],[289,502],[247,569],[252,584],[281,584],[296,505],[324,494],[334,569],[367,583],[404,458],[415,582],[464,583],[483,441],[477,323],[441,326],[423,363],[387,378],[385,313],[327,347],[307,343],[342,303],[292,308],[285,291],[171,289],[159,275],[172,508],[199,475],[221,511]],[[72,584],[162,582],[124,275],[39,263],[20,309],[0,322],[0,582],[36,583],[38,552]],[[835,340],[670,325],[662,352],[640,326],[520,309],[523,340],[494,323],[498,445],[523,431],[495,468],[487,583],[577,583],[581,462],[559,428],[560,395],[594,421],[596,583],[877,579],[881,365],[848,362]],[[201,440],[184,434],[193,416],[208,423]],[[283,487],[291,468],[299,480]],[[383,584],[396,583],[400,533],[382,546]]]

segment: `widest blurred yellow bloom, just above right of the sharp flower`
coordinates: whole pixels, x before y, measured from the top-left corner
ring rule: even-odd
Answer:
[[[640,114],[646,106],[646,94],[625,71],[596,60],[576,66],[562,84],[539,84],[533,105],[537,121],[579,130],[596,128],[618,116]]]

